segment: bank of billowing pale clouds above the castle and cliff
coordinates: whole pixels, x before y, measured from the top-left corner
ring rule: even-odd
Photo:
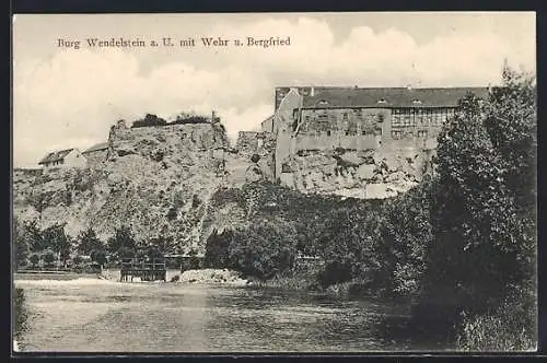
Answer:
[[[182,110],[223,119],[232,138],[272,113],[274,89],[292,84],[360,86],[485,85],[497,83],[503,60],[535,70],[535,37],[517,45],[496,33],[434,37],[418,44],[396,27],[361,25],[336,39],[329,23],[301,16],[218,23],[210,36],[291,37],[290,47],[242,47],[179,52],[143,72],[139,52],[62,50],[49,59],[14,62],[14,163],[35,164],[46,151],[86,148],[107,138],[117,119]],[[153,59],[147,55],[148,61]],[[207,65],[206,65],[207,63]]]

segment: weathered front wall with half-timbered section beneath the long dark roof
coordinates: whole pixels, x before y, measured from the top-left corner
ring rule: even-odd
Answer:
[[[442,125],[453,115],[453,108],[302,109],[295,151],[435,149]]]

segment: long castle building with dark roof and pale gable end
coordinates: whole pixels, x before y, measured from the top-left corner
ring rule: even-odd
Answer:
[[[277,134],[276,177],[302,150],[434,150],[446,119],[468,93],[488,87],[277,87],[275,114],[261,124]]]

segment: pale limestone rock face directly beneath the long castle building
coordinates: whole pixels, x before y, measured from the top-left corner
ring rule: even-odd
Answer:
[[[408,191],[428,172],[420,150],[305,150],[283,161],[283,185],[305,194],[385,199]]]

